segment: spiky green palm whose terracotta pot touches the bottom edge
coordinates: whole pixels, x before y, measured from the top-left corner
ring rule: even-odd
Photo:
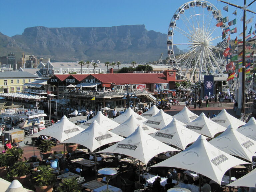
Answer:
[[[35,180],[36,192],[52,192],[55,175],[50,165],[38,166],[33,179]]]

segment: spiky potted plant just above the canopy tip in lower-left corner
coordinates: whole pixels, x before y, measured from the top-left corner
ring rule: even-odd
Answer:
[[[24,161],[18,161],[11,167],[11,175],[13,179],[17,179],[22,185],[26,185],[31,173]]]

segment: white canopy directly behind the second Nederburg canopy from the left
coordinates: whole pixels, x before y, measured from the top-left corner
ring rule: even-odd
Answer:
[[[80,125],[83,129],[89,127],[93,121],[97,121],[100,126],[104,127],[106,130],[111,130],[120,125],[119,123],[113,121],[112,119],[107,118],[105,115],[98,111],[97,115],[95,115],[92,119],[86,121],[84,124]]]

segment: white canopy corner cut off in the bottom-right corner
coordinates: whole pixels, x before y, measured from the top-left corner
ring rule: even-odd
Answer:
[[[256,169],[226,186],[256,187]]]

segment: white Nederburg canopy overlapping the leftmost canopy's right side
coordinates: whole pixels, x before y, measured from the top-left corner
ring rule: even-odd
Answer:
[[[123,140],[123,137],[116,135],[99,125],[97,121],[77,135],[65,140],[63,143],[76,143],[83,145],[94,152],[99,147]]]

